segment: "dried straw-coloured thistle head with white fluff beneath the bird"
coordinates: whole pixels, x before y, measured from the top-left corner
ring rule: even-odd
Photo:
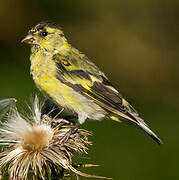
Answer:
[[[74,152],[87,153],[90,133],[83,129],[73,132],[69,139],[61,144],[59,139],[69,131],[73,123],[64,119],[52,119],[41,114],[38,98],[35,98],[31,118],[25,118],[11,109],[6,123],[0,128],[0,144],[4,150],[0,153],[0,169],[8,169],[10,179],[45,179],[52,170],[72,171],[89,178],[107,179],[101,176],[87,175],[72,165]]]

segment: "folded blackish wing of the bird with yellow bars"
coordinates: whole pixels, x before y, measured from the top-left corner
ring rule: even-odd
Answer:
[[[115,90],[108,79],[87,70],[68,70],[60,60],[57,64],[57,78],[83,96],[92,99],[106,110],[118,114],[122,118],[136,121],[123,106],[120,93]]]

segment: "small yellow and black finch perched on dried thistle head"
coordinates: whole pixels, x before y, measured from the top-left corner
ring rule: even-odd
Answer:
[[[78,118],[73,130],[87,119],[107,118],[139,127],[162,144],[106,75],[68,43],[59,25],[40,22],[21,42],[31,46],[30,72],[37,88],[58,107]],[[65,138],[69,135],[70,131]]]

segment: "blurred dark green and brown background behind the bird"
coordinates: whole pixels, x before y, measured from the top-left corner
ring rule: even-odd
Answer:
[[[179,179],[178,18],[177,0],[3,0],[0,99],[15,97],[24,107],[40,94],[29,74],[30,49],[20,40],[34,24],[55,21],[164,141],[158,146],[113,121],[87,122],[93,146],[82,161],[101,167],[86,172],[114,180]]]

